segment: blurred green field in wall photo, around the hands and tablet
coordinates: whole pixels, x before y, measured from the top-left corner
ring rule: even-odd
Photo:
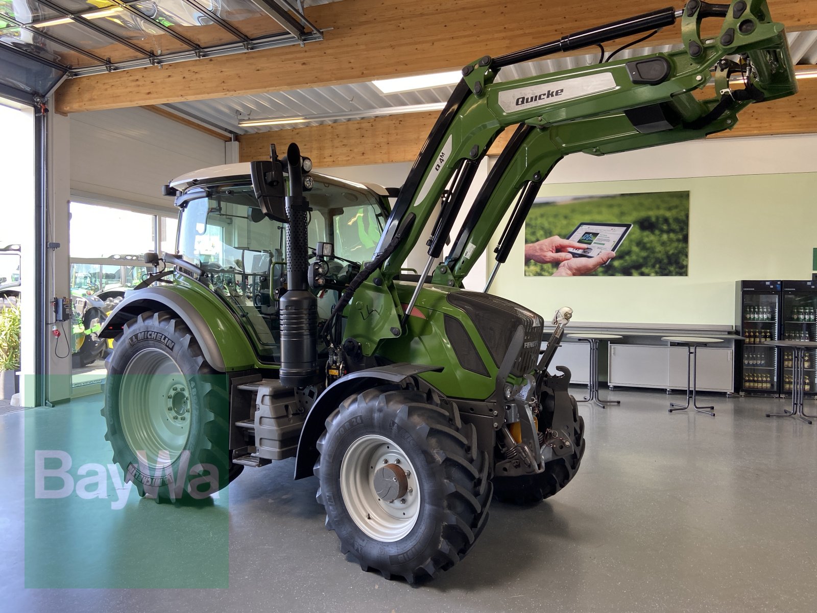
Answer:
[[[632,224],[614,259],[590,275],[687,275],[689,191],[539,197],[525,221],[525,244],[554,235],[567,239],[580,223]],[[525,262],[527,276],[555,271],[556,264]]]

